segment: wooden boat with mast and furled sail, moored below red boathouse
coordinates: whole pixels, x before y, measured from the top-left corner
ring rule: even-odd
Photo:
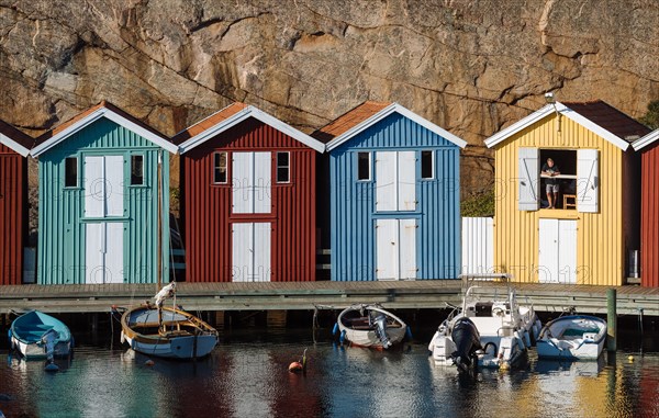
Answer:
[[[171,359],[208,355],[217,344],[217,331],[188,312],[164,307],[163,300],[175,292],[176,282],[169,283],[156,296],[155,306],[127,309],[121,317],[121,341],[148,355]]]

